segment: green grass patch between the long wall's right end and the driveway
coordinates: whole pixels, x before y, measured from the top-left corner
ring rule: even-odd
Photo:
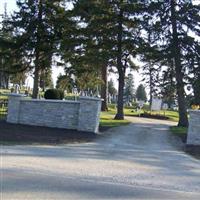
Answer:
[[[100,116],[100,126],[117,127],[127,125],[130,122],[128,120],[114,120],[114,115],[111,112],[102,112]]]

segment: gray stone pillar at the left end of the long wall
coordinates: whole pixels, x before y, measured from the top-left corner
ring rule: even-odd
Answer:
[[[19,122],[20,100],[24,95],[10,94],[8,99],[7,122],[17,124]]]

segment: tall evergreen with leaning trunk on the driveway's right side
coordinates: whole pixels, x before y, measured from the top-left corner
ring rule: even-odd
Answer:
[[[161,53],[162,62],[173,60],[179,105],[179,126],[188,126],[184,91],[184,51],[182,47],[192,32],[199,34],[199,5],[192,1],[147,1],[144,15],[151,24],[154,47]],[[149,26],[148,26],[149,27]],[[145,27],[144,27],[145,29]],[[160,57],[161,58],[161,57]]]

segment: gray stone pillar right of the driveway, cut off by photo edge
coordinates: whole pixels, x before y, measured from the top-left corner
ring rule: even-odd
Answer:
[[[200,110],[189,111],[187,145],[200,145]]]

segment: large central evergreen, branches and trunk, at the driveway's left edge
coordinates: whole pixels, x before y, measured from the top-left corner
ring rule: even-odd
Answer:
[[[84,69],[85,63],[91,63],[89,66],[95,63],[96,69],[117,68],[119,88],[115,119],[124,118],[124,79],[126,68],[132,66],[130,57],[135,56],[138,45],[136,17],[141,12],[140,6],[140,1],[76,1],[71,12],[76,21],[73,37],[66,34],[64,40],[65,59],[76,66],[77,71]]]

